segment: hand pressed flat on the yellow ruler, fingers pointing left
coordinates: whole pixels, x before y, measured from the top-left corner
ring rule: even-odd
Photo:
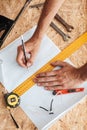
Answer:
[[[62,61],[56,61],[51,65],[60,66],[61,69],[38,74],[34,79],[38,86],[44,86],[47,90],[57,90],[74,88],[83,82],[79,69],[72,65]]]

